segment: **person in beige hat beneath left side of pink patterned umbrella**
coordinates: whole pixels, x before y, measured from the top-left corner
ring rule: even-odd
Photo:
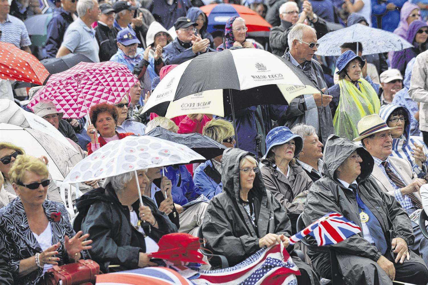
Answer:
[[[34,114],[43,119],[47,120],[54,126],[58,131],[66,138],[71,139],[76,144],[79,143],[77,140],[76,133],[71,127],[70,123],[66,120],[62,120],[64,113],[56,110],[55,104],[51,100],[42,100],[34,106]]]

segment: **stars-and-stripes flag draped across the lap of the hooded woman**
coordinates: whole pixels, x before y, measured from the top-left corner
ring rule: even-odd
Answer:
[[[262,248],[233,267],[198,272],[190,280],[205,285],[297,285],[296,275],[300,275],[282,243]]]

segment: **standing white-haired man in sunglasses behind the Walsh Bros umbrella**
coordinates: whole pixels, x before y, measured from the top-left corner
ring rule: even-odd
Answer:
[[[292,128],[298,123],[313,126],[321,142],[333,134],[333,118],[329,103],[333,98],[327,95],[327,84],[321,64],[312,57],[318,48],[314,28],[305,24],[295,24],[288,33],[288,46],[283,58],[290,61],[320,90],[320,93],[297,96],[290,102],[285,112],[285,126]]]

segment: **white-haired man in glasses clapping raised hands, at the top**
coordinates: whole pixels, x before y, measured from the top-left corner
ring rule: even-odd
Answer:
[[[288,33],[295,24],[303,24],[307,20],[308,24],[315,28],[318,38],[328,33],[325,21],[312,11],[312,5],[309,1],[303,2],[303,11],[299,16],[299,7],[296,2],[288,1],[279,7],[279,18],[281,24],[270,30],[269,42],[272,53],[277,56],[284,55],[288,48]]]

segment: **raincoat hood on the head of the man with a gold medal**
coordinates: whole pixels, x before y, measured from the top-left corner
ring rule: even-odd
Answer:
[[[337,135],[330,135],[324,146],[323,173],[330,179],[337,181],[336,177],[334,177],[334,171],[355,150],[363,159],[363,162],[360,163],[361,174],[357,177],[357,182],[360,183],[360,181],[366,180],[373,171],[373,157],[364,147],[358,146],[347,138],[340,138]]]

